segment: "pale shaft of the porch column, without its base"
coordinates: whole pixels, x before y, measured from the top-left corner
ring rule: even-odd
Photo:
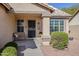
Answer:
[[[50,18],[43,17],[42,19],[42,29],[43,29],[43,36],[50,36]]]

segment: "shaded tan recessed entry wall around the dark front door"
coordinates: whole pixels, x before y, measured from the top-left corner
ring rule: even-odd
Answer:
[[[21,21],[16,24],[17,32],[24,32],[26,39],[39,37],[39,32],[42,32],[41,14],[15,13],[16,21]],[[19,27],[18,27],[19,26]]]

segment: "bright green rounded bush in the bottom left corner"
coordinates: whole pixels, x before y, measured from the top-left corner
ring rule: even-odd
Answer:
[[[17,50],[14,47],[6,47],[2,53],[1,56],[16,56]]]

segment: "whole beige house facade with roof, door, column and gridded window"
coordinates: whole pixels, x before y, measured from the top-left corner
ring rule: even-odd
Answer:
[[[54,31],[69,31],[71,15],[45,3],[0,4],[0,48],[12,41],[12,34],[25,33],[26,39],[40,37],[51,39]]]

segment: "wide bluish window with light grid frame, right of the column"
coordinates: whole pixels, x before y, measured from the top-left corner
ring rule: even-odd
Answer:
[[[56,23],[56,21],[58,21],[58,25],[53,24],[54,22]],[[61,21],[63,21],[63,24],[60,24]],[[63,19],[51,19],[50,20],[50,32],[64,32],[65,30],[65,21]],[[53,28],[55,29],[55,27],[58,26],[58,31],[53,30]],[[61,31],[61,27],[63,27],[63,30]]]

